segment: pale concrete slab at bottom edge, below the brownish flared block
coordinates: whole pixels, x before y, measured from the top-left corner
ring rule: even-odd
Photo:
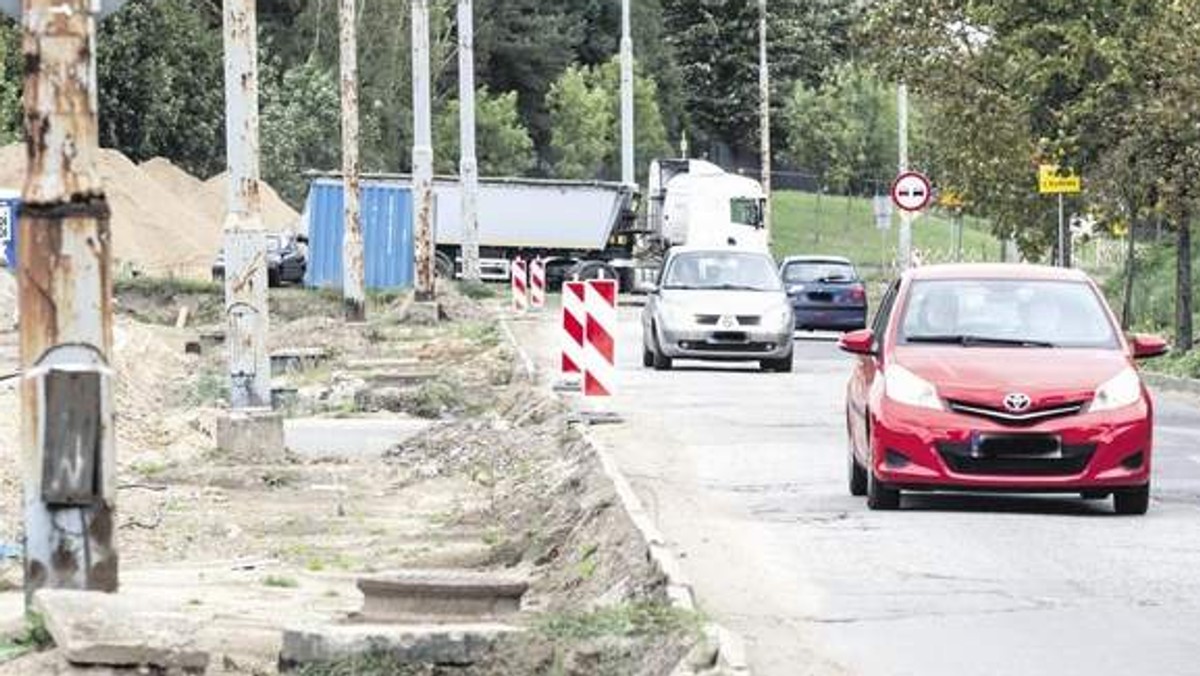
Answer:
[[[497,623],[474,624],[326,624],[283,632],[280,670],[293,671],[366,654],[386,654],[400,664],[467,666],[486,658],[492,646],[522,632]]]

